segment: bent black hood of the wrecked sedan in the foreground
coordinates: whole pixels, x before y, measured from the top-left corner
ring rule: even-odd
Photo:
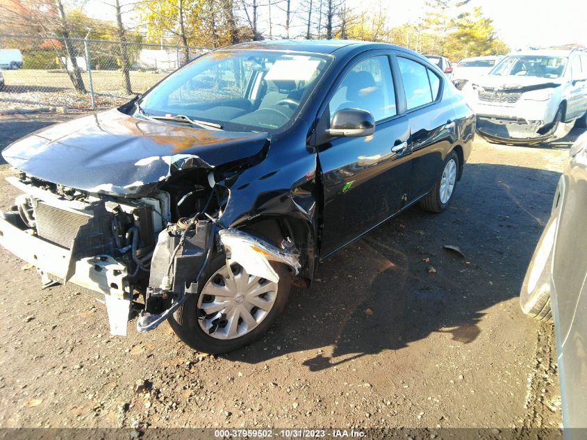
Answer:
[[[6,147],[2,156],[38,179],[138,197],[175,172],[261,154],[267,142],[267,133],[179,127],[113,109],[36,131]]]

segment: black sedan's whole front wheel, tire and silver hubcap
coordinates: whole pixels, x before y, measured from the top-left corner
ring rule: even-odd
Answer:
[[[220,354],[242,348],[262,336],[286,306],[292,277],[272,263],[279,282],[249,275],[224,254],[208,263],[197,295],[190,294],[170,318],[170,325],[194,350]]]

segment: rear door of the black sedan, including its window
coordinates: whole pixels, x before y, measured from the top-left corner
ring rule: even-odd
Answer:
[[[443,101],[447,79],[417,58],[397,56],[411,133],[411,179],[408,200],[427,193],[443,169],[452,147],[455,114]]]

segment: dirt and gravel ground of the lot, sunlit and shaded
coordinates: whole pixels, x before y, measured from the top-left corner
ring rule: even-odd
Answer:
[[[0,147],[69,117],[1,117]],[[1,249],[0,427],[558,427],[554,333],[518,292],[579,134],[477,138],[445,213],[410,209],[336,254],[261,341],[225,356],[167,324],[110,336],[101,304],[41,290]],[[0,185],[6,210],[16,192]]]

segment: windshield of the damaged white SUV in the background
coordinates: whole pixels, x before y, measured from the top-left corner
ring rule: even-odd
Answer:
[[[567,58],[561,56],[507,56],[489,74],[560,78],[566,64]]]

